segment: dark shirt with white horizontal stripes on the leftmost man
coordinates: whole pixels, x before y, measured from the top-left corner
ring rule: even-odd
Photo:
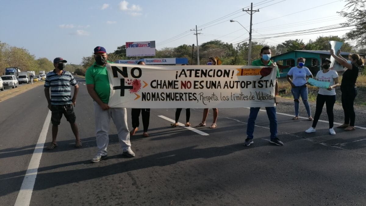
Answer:
[[[78,85],[74,76],[63,71],[59,76],[55,70],[49,72],[45,80],[45,88],[51,88],[51,104],[71,104],[71,87]]]

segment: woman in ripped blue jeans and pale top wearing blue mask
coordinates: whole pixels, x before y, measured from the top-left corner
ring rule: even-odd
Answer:
[[[311,117],[311,110],[309,102],[307,101],[308,90],[307,90],[307,79],[309,77],[313,78],[309,68],[305,66],[305,58],[300,57],[297,59],[297,66],[292,67],[290,71],[288,71],[286,79],[291,84],[291,93],[294,96],[294,103],[295,103],[295,117],[292,118],[293,120],[299,119],[299,99],[301,96],[302,102],[305,105],[307,115],[309,117],[309,121],[313,120]],[[292,77],[292,80],[291,80]]]

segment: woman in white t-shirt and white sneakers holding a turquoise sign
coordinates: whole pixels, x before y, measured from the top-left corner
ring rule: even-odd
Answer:
[[[322,68],[323,70],[318,71],[317,76],[315,77],[318,81],[329,82],[329,88],[319,88],[318,96],[317,96],[317,106],[315,109],[314,121],[313,125],[307,129],[306,133],[315,132],[315,127],[317,126],[320,114],[323,110],[324,103],[326,105],[326,113],[328,114],[329,121],[329,133],[330,135],[335,135],[336,132],[333,129],[333,106],[336,102],[336,90],[340,84],[338,82],[338,74],[335,70],[330,70],[330,60],[328,58],[324,58],[322,60]]]

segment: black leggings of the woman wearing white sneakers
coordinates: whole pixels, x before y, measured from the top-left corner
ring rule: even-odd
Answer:
[[[318,94],[317,96],[317,106],[315,109],[314,121],[312,125],[313,128],[317,126],[320,114],[323,110],[324,103],[326,106],[326,114],[328,114],[329,129],[333,128],[333,122],[334,122],[333,107],[334,103],[336,103],[336,95],[321,95],[321,94]]]

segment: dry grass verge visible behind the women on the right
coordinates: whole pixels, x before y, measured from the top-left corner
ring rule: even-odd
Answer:
[[[342,81],[342,76],[339,76],[339,82]],[[366,75],[360,75],[356,81],[357,86],[357,96],[355,99],[356,105],[363,105],[366,106]],[[279,89],[285,89],[286,93],[281,93],[280,96],[287,99],[293,99],[291,93],[291,85],[287,82],[285,78],[279,80]],[[316,101],[319,88],[308,85],[309,90],[309,101]],[[336,88],[336,103],[341,103],[341,91],[340,88]]]

